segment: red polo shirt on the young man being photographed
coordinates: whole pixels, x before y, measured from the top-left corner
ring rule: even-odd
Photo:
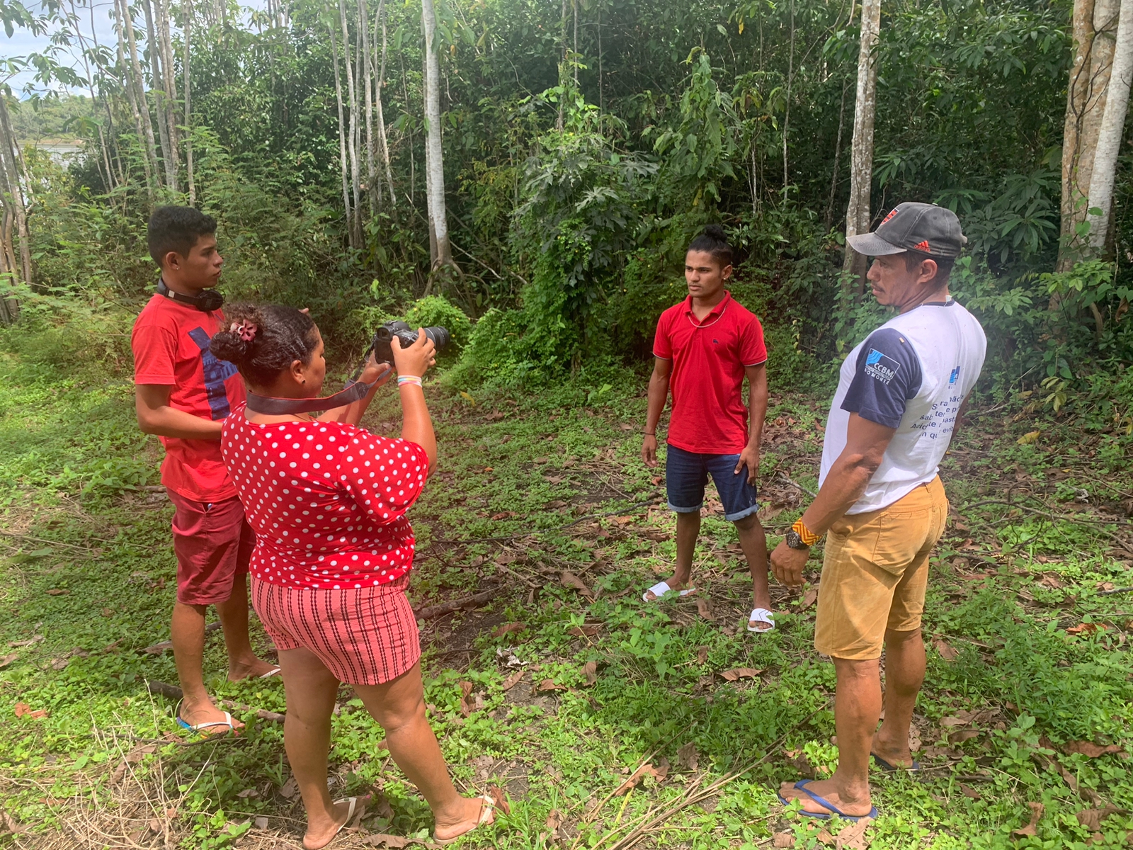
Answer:
[[[744,368],[767,360],[764,328],[755,314],[725,290],[724,299],[700,322],[689,296],[661,314],[653,354],[673,362],[668,444],[701,454],[743,451],[748,444]]]

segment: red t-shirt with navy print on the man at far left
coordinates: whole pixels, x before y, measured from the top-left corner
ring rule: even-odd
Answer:
[[[208,342],[224,325],[223,312],[210,313],[154,295],[134,322],[134,383],[172,386],[169,406],[216,422],[245,399],[244,379]],[[163,436],[161,483],[197,502],[236,498],[219,440]]]

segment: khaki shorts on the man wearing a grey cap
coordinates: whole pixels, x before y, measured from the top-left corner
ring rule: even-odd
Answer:
[[[879,658],[886,630],[919,629],[928,556],[947,519],[936,477],[887,508],[837,520],[826,537],[815,648],[835,658]]]

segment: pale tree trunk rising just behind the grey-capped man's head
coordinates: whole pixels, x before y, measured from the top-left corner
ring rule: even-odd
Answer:
[[[877,58],[875,48],[881,26],[881,0],[862,0],[861,44],[858,50],[858,93],[854,99],[853,137],[850,143],[850,204],[846,236],[869,232],[869,205],[874,180],[874,113],[877,109]],[[866,257],[846,245],[842,264],[843,286],[861,292],[866,281]]]

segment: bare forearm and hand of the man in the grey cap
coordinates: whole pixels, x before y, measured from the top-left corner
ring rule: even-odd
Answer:
[[[881,458],[896,428],[850,414],[846,444],[830,466],[818,498],[802,513],[802,522],[817,535],[826,534],[866,492],[866,485],[881,465]],[[772,570],[785,585],[802,584],[802,568],[810,554],[780,543],[772,553]]]

